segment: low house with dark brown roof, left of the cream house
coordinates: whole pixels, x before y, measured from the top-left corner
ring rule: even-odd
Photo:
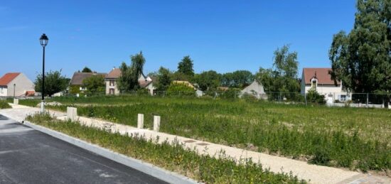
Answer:
[[[71,94],[76,94],[77,97],[80,93],[84,93],[87,89],[82,86],[83,80],[91,77],[92,75],[102,75],[102,77],[106,76],[106,73],[98,73],[98,72],[75,72],[73,73],[72,79],[69,82],[70,89],[68,91]]]

